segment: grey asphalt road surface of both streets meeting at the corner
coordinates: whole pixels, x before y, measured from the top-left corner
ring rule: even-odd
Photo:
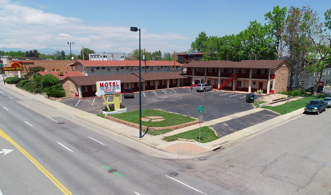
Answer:
[[[300,114],[206,156],[169,160],[146,155],[150,150],[144,145],[40,105],[30,100],[32,95],[1,85],[0,92],[0,129],[10,138],[0,133],[0,148],[13,149],[0,153],[3,195],[331,192],[331,109]]]

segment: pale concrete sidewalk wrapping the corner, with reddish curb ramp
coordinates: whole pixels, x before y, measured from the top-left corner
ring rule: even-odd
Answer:
[[[190,142],[190,141],[179,141],[179,140],[173,141],[173,142],[166,142],[166,141],[162,140],[164,137],[199,128],[199,124],[191,125],[189,127],[184,127],[181,129],[176,129],[174,131],[165,133],[163,135],[150,136],[150,135],[145,134],[145,135],[143,135],[142,138],[139,138],[139,129],[129,127],[129,126],[126,126],[124,124],[121,124],[121,123],[118,123],[118,122],[115,122],[115,121],[112,121],[109,119],[101,118],[99,116],[96,116],[95,114],[91,114],[91,113],[87,113],[87,112],[78,110],[76,108],[63,104],[61,102],[47,99],[43,95],[33,95],[20,88],[17,88],[15,85],[10,85],[10,84],[4,85],[3,83],[1,85],[23,95],[24,97],[26,97],[28,99],[35,100],[42,104],[53,107],[57,110],[74,115],[78,118],[89,121],[89,122],[91,122],[95,125],[101,126],[103,128],[109,129],[113,132],[116,132],[116,133],[126,136],[128,138],[131,138],[135,141],[144,143],[148,146],[151,146],[151,147],[154,147],[154,148],[157,148],[160,150],[168,151],[171,153],[176,153],[176,154],[178,154],[177,158],[189,158],[189,157],[197,157],[197,156],[205,155],[206,152],[213,151],[215,149],[220,148],[221,146],[225,146],[225,145],[233,143],[237,140],[243,139],[247,136],[256,134],[258,132],[262,132],[264,130],[272,129],[276,126],[279,126],[287,121],[290,121],[295,116],[298,116],[304,112],[304,109],[302,108],[302,109],[293,111],[288,114],[280,115],[280,116],[274,117],[270,120],[264,121],[262,123],[259,123],[259,124],[250,126],[248,128],[242,129],[240,131],[237,131],[235,133],[226,135],[224,137],[221,137],[221,138],[214,140],[212,142],[209,142],[209,143],[199,143],[196,141]],[[210,121],[205,121],[205,122],[201,123],[201,125],[210,126],[210,125],[213,125],[216,123],[231,120],[233,118],[241,117],[241,116],[244,116],[247,114],[256,113],[261,110],[263,110],[263,109],[261,109],[261,108],[251,109],[251,110],[248,110],[245,112],[232,114],[229,116],[217,118],[217,119],[210,120]]]

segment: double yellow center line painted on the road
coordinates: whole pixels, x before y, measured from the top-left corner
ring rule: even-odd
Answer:
[[[34,159],[29,153],[27,153],[20,145],[18,145],[14,140],[12,140],[5,132],[0,129],[0,136],[10,142],[18,150],[26,156],[45,176],[51,180],[65,195],[71,195],[72,193],[64,186],[62,183],[57,180],[52,174],[50,174],[36,159]]]

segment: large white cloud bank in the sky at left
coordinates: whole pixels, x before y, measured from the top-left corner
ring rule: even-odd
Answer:
[[[128,26],[87,25],[80,18],[45,13],[9,0],[0,0],[0,5],[1,47],[66,50],[67,41],[75,42],[72,50],[80,50],[84,46],[93,50],[128,53],[139,47],[139,32],[131,32]],[[141,47],[151,52],[184,51],[189,49],[190,42],[183,35],[151,34],[141,29]]]

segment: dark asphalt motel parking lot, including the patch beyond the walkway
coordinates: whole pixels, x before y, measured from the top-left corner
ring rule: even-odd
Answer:
[[[255,95],[255,98],[258,97],[260,95]],[[107,99],[108,102],[113,101],[112,96],[106,97]],[[127,108],[128,112],[139,110],[139,93],[135,93],[134,98],[131,99],[124,99],[123,95],[121,95],[121,101],[121,104]],[[93,114],[99,114],[102,107],[104,107],[101,97],[89,99],[72,98],[62,100],[61,102]],[[205,121],[254,109],[251,104],[246,102],[246,94],[232,93],[230,91],[197,92],[193,90],[191,92],[190,88],[173,88],[141,93],[142,109],[159,109],[197,118],[197,107],[200,105],[204,106],[203,116]],[[275,116],[278,116],[278,114],[262,110],[217,123],[211,127],[215,129],[218,136],[222,137]]]

